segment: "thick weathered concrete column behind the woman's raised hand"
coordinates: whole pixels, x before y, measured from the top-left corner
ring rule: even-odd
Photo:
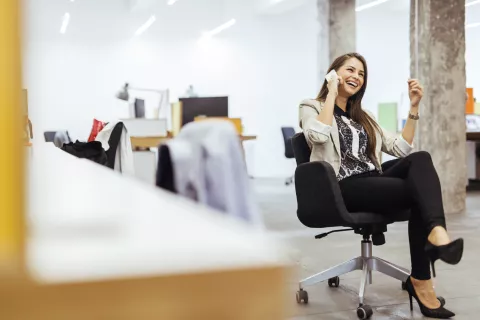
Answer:
[[[465,210],[467,181],[465,0],[417,1],[417,18],[416,0],[410,10],[411,75],[424,84],[425,94],[416,144],[432,155],[445,213],[459,213]]]

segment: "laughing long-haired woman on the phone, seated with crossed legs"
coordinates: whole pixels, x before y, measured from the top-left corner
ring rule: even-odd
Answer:
[[[453,317],[436,297],[430,263],[435,276],[437,259],[460,262],[463,239],[452,242],[446,231],[440,181],[430,155],[410,154],[423,88],[417,80],[408,81],[410,112],[397,137],[362,109],[368,77],[365,59],[357,53],[346,54],[333,62],[329,74],[332,70],[336,74],[324,82],[317,99],[300,105],[301,127],[312,150],[310,161],[332,165],[350,212],[388,214],[392,208],[411,209],[412,273],[407,291],[425,316]],[[382,166],[382,151],[400,159]]]

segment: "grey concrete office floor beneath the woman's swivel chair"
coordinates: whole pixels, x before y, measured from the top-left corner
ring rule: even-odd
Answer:
[[[285,186],[283,180],[255,179],[255,190],[267,228],[285,240],[289,257],[297,271],[288,280],[291,289],[290,320],[357,319],[360,272],[340,277],[339,288],[326,283],[307,287],[308,305],[297,305],[295,292],[298,279],[305,278],[360,254],[361,237],[352,232],[331,234],[320,240],[314,236],[323,230],[303,226],[296,216],[294,186]],[[457,314],[455,319],[478,319],[480,314],[480,192],[467,194],[467,212],[447,217],[453,238],[465,239],[463,260],[457,266],[436,263],[436,291],[447,300],[446,307]],[[373,255],[410,268],[407,223],[388,227],[387,243],[373,247]],[[374,273],[373,284],[367,286],[366,304],[374,308],[372,319],[424,319],[418,305],[410,311],[408,295],[399,281]],[[425,318],[426,319],[426,318]]]

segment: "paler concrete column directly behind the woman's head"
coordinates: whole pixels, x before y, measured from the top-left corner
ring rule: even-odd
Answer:
[[[317,11],[317,70],[321,84],[333,60],[356,49],[355,0],[317,0]]]

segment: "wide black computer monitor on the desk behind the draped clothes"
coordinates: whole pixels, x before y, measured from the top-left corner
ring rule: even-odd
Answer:
[[[196,117],[228,117],[228,97],[181,98],[182,126]]]

